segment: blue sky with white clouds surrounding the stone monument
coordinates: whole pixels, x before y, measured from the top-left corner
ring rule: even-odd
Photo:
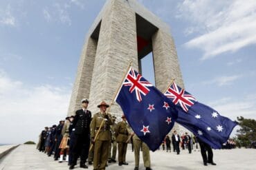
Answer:
[[[66,116],[84,36],[104,2],[0,1],[0,143],[37,141]],[[256,118],[256,1],[140,3],[170,25],[188,92],[232,120]],[[149,61],[143,74],[153,81]]]

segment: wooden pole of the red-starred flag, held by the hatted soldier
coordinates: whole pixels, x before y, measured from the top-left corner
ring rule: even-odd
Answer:
[[[118,89],[116,90],[115,94],[113,95],[113,98],[112,98],[112,100],[111,100],[111,103],[110,103],[109,107],[107,108],[107,111],[106,111],[106,112],[109,112],[109,111],[110,111],[111,106],[113,105],[113,102],[114,102],[114,100],[115,100],[115,98],[116,98],[116,95],[118,94],[119,89],[120,89],[120,87],[122,86],[122,82],[125,80],[125,76],[126,76],[127,72],[129,71],[129,68],[131,67],[131,63],[132,63],[132,61],[129,61],[129,65],[127,66],[127,69],[125,70],[124,75],[122,76],[122,81],[120,81],[120,83],[119,83],[119,85],[118,85]],[[104,120],[102,120],[102,122],[100,123],[100,127],[99,127],[99,129],[98,129],[98,131],[97,131],[97,134],[95,135],[94,141],[96,141],[96,139],[98,138],[99,133],[100,133],[100,130],[101,130],[102,126],[103,126],[103,123],[104,123]],[[89,149],[89,152],[91,151],[92,148],[93,148],[93,143],[91,143],[91,147],[90,147],[90,149]]]

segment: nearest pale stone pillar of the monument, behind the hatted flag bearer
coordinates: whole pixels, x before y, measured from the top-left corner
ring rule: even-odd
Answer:
[[[129,61],[138,70],[135,13],[125,1],[110,1],[102,15],[98,47],[95,56],[89,109],[99,111],[97,105],[105,100],[111,103]],[[113,114],[122,114],[112,105]]]

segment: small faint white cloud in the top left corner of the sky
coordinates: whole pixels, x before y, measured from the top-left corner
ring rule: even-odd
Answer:
[[[5,10],[0,10],[0,25],[15,27],[16,19],[12,14],[10,5],[8,5]]]

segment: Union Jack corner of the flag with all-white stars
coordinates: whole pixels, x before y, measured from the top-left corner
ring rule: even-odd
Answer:
[[[188,92],[185,92],[185,90],[176,85],[176,83],[172,83],[169,89],[167,89],[167,92],[165,92],[165,96],[170,98],[174,105],[181,106],[185,112],[188,112],[189,107],[194,105],[194,102],[196,102],[196,98]]]

